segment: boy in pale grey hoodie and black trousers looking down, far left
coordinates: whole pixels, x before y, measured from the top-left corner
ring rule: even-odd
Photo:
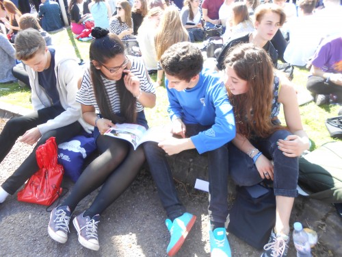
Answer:
[[[26,65],[31,85],[34,111],[10,119],[0,134],[0,162],[19,138],[22,143],[35,145],[34,150],[0,187],[0,203],[13,195],[31,175],[38,171],[36,149],[51,136],[58,144],[92,130],[81,118],[81,105],[75,101],[81,69],[77,60],[47,47],[36,29],[18,32],[14,44],[16,58]]]

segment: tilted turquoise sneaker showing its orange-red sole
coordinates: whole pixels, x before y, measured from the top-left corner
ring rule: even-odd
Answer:
[[[170,219],[166,219],[166,227],[170,231],[171,238],[166,252],[168,256],[174,256],[183,245],[187,234],[192,229],[196,221],[196,216],[185,212],[181,217],[174,219],[173,223]]]

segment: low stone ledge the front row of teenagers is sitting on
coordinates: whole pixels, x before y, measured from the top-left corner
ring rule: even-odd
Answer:
[[[32,110],[20,108],[0,101],[0,117],[10,119],[28,114]],[[208,180],[208,162],[206,154],[199,155],[190,150],[168,156],[172,174],[176,180],[194,186],[196,178]],[[235,194],[235,185],[228,180],[229,194]],[[300,221],[304,227],[310,227],[318,234],[319,244],[324,252],[317,256],[342,256],[342,222],[334,206],[308,197],[297,197],[291,213],[290,223]]]

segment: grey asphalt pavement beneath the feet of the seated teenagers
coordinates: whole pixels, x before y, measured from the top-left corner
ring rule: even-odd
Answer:
[[[0,131],[4,122],[0,119]],[[29,151],[31,147],[28,145],[14,145],[0,164],[0,184],[23,162]],[[70,189],[73,186],[67,180],[64,185]],[[207,193],[180,182],[176,186],[187,211],[197,216],[194,228],[177,256],[209,256]],[[96,193],[80,202],[75,215],[90,205]],[[0,206],[0,256],[166,256],[169,234],[164,225],[165,218],[155,184],[149,173],[143,170],[131,187],[103,213],[98,227],[101,248],[93,252],[78,243],[73,226],[66,244],[53,241],[47,233],[49,213],[45,207],[18,202],[14,195]],[[294,221],[302,221],[318,232],[319,244],[313,249],[313,256],[342,256],[341,219],[332,206],[298,198],[291,215],[291,223]],[[261,254],[233,234],[229,234],[228,239],[233,256]],[[288,256],[295,256],[292,243]]]

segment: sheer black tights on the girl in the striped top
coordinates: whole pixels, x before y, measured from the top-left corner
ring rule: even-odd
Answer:
[[[61,206],[69,206],[73,212],[81,199],[102,186],[85,216],[101,213],[115,201],[135,179],[145,161],[144,150],[136,150],[125,140],[98,136],[96,140],[101,156],[93,160],[77,180],[73,191]]]

